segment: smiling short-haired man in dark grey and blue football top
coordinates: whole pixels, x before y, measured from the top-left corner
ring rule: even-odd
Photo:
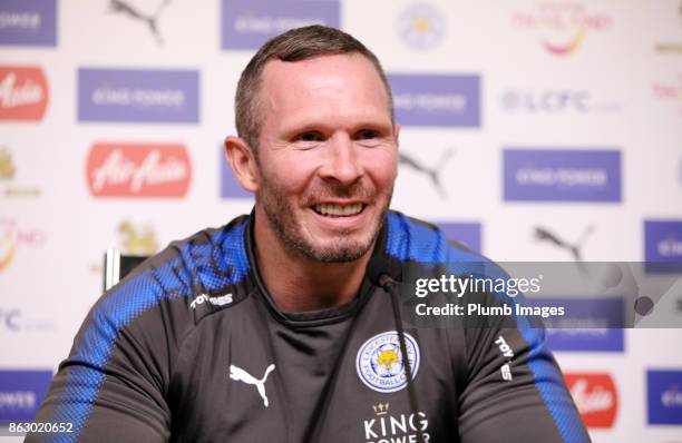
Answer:
[[[399,127],[362,43],[279,36],[235,107],[226,158],[254,211],[103,296],[37,416],[72,432],[28,441],[588,441],[542,331],[402,331],[366,276],[370,259],[389,275],[483,259],[388,210]]]

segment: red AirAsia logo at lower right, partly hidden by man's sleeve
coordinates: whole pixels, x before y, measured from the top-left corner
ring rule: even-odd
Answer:
[[[618,395],[608,374],[565,374],[564,378],[587,427],[612,427]]]

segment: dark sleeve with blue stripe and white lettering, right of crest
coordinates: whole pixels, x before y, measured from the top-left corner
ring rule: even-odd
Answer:
[[[495,296],[484,298],[488,306],[501,305]],[[462,443],[591,441],[546,347],[542,324],[512,314],[464,334],[468,383],[459,396]]]

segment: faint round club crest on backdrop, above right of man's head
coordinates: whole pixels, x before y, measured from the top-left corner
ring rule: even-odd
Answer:
[[[418,3],[408,7],[398,18],[400,38],[409,47],[425,50],[437,47],[446,30],[444,14],[432,6]]]

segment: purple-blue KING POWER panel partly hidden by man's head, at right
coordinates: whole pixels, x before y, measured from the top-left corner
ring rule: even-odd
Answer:
[[[388,80],[401,125],[480,126],[479,76],[393,73]]]

